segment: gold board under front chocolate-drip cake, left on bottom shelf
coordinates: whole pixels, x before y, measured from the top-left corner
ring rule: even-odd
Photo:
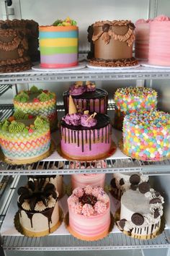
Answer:
[[[40,237],[40,236],[47,236],[48,234],[53,233],[56,229],[61,226],[61,223],[63,222],[63,210],[59,207],[59,220],[58,223],[56,223],[51,229],[49,233],[49,229],[45,231],[40,231],[40,232],[33,232],[27,229],[24,229],[24,227],[21,225],[19,222],[19,211],[17,211],[16,215],[14,216],[14,226],[19,233],[23,234],[24,236],[29,236],[29,237]]]

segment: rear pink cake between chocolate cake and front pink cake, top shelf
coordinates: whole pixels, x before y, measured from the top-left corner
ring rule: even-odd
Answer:
[[[152,19],[135,22],[135,58],[148,60],[149,33]]]

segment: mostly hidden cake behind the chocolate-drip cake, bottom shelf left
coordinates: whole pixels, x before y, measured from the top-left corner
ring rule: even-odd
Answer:
[[[40,166],[38,166],[40,168]],[[45,184],[50,183],[53,184],[56,191],[58,192],[59,198],[63,197],[63,175],[34,175],[27,176],[28,181],[32,182],[41,182],[44,181]]]

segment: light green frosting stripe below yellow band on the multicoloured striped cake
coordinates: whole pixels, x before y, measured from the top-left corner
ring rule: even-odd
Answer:
[[[52,54],[76,54],[77,46],[69,47],[40,47],[40,53],[42,55]]]

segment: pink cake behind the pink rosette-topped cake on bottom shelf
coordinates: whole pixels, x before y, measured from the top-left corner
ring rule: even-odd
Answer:
[[[72,162],[70,168],[106,168],[107,164],[104,160],[99,162],[90,162],[86,163],[86,166],[83,163]],[[71,187],[76,189],[76,187],[86,187],[87,185],[102,187],[104,188],[106,174],[72,174],[71,175]]]

